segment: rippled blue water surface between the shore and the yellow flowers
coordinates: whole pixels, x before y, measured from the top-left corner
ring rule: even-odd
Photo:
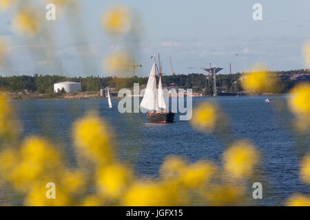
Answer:
[[[265,103],[266,98],[273,102]],[[110,122],[118,156],[134,167],[141,177],[158,177],[158,169],[167,155],[183,155],[189,161],[209,159],[221,164],[222,155],[233,140],[248,139],[260,151],[260,165],[251,181],[263,184],[260,205],[282,205],[293,192],[309,193],[299,179],[299,163],[309,151],[309,133],[298,135],[292,129],[293,115],[286,109],[286,96],[243,96],[193,98],[193,106],[216,101],[227,115],[228,129],[208,134],[196,131],[190,122],[150,124],[143,113],[119,113],[118,99],[107,100],[30,100],[14,101],[23,124],[23,136],[44,135],[65,152],[69,166],[75,166],[72,123],[87,111],[99,112]]]

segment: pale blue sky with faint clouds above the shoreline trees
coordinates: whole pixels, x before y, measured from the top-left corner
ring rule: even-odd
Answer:
[[[143,65],[137,76],[149,74],[149,56],[157,50],[167,74],[171,74],[169,56],[176,74],[189,74],[193,70],[187,67],[207,67],[210,62],[224,67],[223,74],[228,72],[229,62],[232,72],[245,71],[258,62],[272,70],[304,68],[302,45],[310,39],[309,0],[77,1],[81,14],[74,21],[81,22],[72,28],[63,16],[57,22],[44,21],[53,45],[17,36],[10,27],[13,12],[1,12],[0,37],[10,41],[11,64],[0,70],[1,75],[56,74],[60,61],[65,76],[112,75],[102,67],[102,60],[117,45],[103,32],[100,21],[107,7],[115,3],[131,8],[143,21],[141,41],[132,46],[138,54],[136,62]],[[262,4],[262,21],[252,19],[254,3]],[[39,10],[43,15],[44,6]],[[86,36],[81,37],[84,41],[75,41],[72,36],[81,33]],[[48,48],[54,56],[37,52]]]

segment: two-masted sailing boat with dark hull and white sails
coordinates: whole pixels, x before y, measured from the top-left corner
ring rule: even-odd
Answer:
[[[158,63],[160,64],[159,54]],[[156,57],[154,56],[154,63],[149,74],[149,80],[147,81],[147,87],[145,88],[145,94],[141,101],[140,107],[149,110],[147,113],[147,119],[152,123],[169,123],[174,122],[174,113],[165,112],[167,109],[165,104],[165,98],[163,96],[163,87],[161,84],[161,65],[159,65],[159,80],[157,85],[156,74]]]

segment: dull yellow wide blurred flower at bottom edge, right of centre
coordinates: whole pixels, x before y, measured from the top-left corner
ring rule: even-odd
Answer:
[[[205,197],[211,206],[232,206],[240,201],[244,192],[242,187],[215,186],[205,194]]]

